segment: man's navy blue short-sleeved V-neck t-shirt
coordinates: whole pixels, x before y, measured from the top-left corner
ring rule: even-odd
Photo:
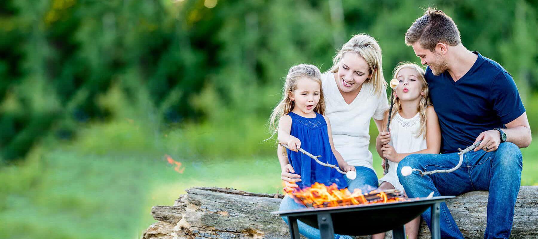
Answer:
[[[441,153],[465,149],[480,133],[505,128],[525,113],[512,76],[497,62],[473,53],[478,55],[475,64],[456,82],[448,71],[436,76],[426,68],[441,126]]]

